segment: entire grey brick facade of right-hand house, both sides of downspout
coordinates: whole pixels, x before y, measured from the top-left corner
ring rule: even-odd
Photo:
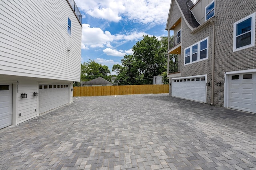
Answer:
[[[174,4],[176,3],[172,1],[172,6],[175,6]],[[178,8],[172,8],[170,11],[169,18],[174,16],[171,20],[177,21],[177,16],[181,14],[180,10],[177,12],[176,9]],[[175,14],[176,12],[178,14]],[[240,0],[215,0],[214,105],[224,106],[225,72],[256,68],[256,46],[233,52],[233,24],[254,12],[256,12],[256,1],[254,0],[243,2]],[[196,33],[192,34],[191,32],[192,30],[182,17],[181,77],[207,74],[207,82],[212,83],[213,25],[209,22]],[[206,37],[208,37],[208,59],[184,65],[184,49]],[[221,82],[223,85],[217,86],[217,82]],[[212,86],[206,87],[206,103],[210,104]]]

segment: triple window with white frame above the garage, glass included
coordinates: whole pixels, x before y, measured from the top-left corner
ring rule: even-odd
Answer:
[[[184,65],[208,59],[208,37],[186,48],[184,53]]]

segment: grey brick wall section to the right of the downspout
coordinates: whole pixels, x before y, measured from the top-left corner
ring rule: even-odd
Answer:
[[[215,0],[216,41],[215,76],[217,82],[224,84],[225,72],[256,68],[256,47],[233,52],[233,24],[256,12],[255,0]],[[227,9],[228,8],[228,9]],[[224,86],[215,86],[214,104],[223,106]]]

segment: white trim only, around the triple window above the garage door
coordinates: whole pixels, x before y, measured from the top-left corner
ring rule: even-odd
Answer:
[[[200,43],[207,40],[207,47],[206,47],[206,58],[204,59],[200,59]],[[193,61],[192,62],[192,47],[194,45],[197,45],[197,60],[196,61]],[[190,62],[189,63],[186,63],[186,49],[190,49]],[[204,61],[204,60],[207,60],[208,59],[208,50],[209,50],[209,37],[206,37],[204,39],[202,39],[201,41],[198,41],[197,43],[194,43],[193,45],[190,45],[189,47],[187,47],[186,49],[184,49],[184,66],[185,65],[188,65],[188,64],[193,64],[193,63],[197,63],[197,62],[200,62],[200,61]]]

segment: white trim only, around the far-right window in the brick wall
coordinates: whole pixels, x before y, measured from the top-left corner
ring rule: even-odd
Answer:
[[[236,21],[234,23],[234,29],[233,29],[233,52],[235,51],[239,51],[239,50],[242,50],[242,49],[246,49],[246,48],[249,48],[249,47],[253,47],[255,45],[255,12],[245,18],[242,18],[241,20],[239,21]],[[240,48],[236,48],[236,25],[244,20],[247,20],[248,18],[252,18],[252,30],[251,30],[251,44],[250,45],[246,45],[246,46],[243,46],[243,47],[240,47]]]

